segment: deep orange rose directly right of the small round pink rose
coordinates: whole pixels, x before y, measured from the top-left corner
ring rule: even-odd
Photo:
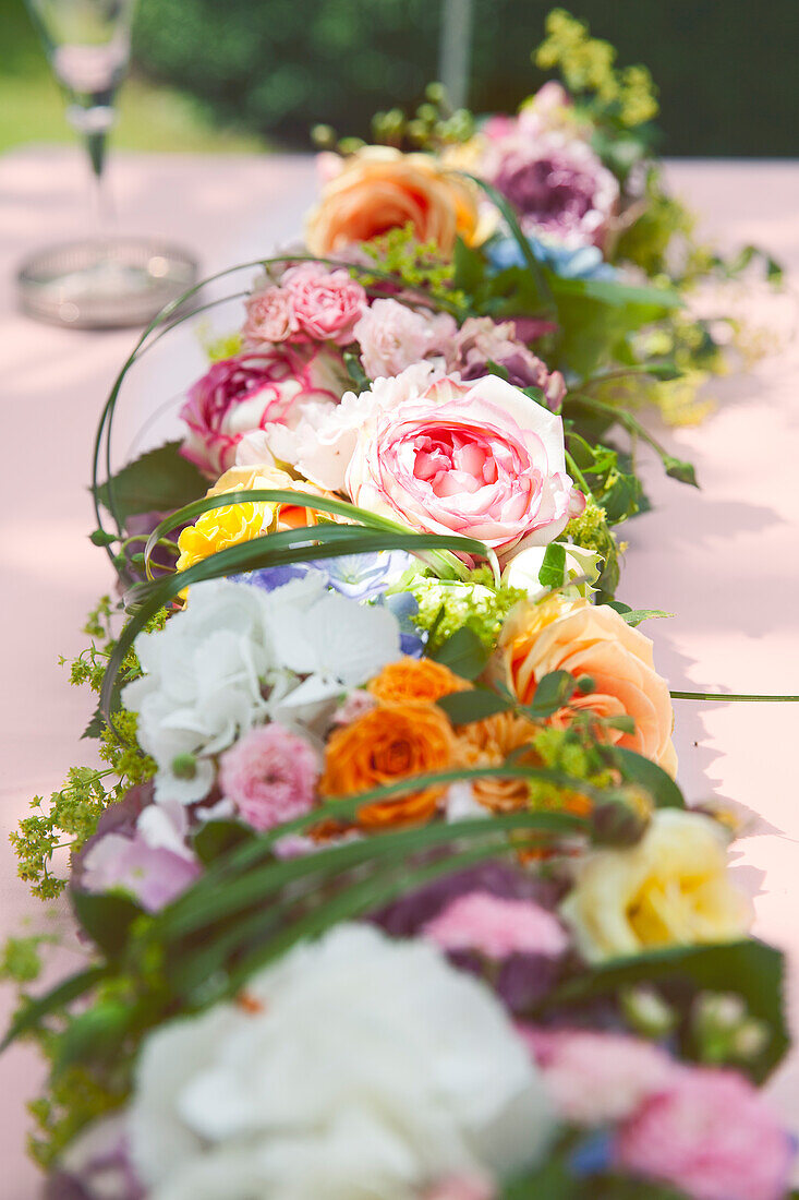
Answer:
[[[446,770],[453,752],[455,734],[440,709],[432,704],[379,706],[330,737],[320,792],[358,796],[410,775]],[[426,787],[367,804],[359,810],[358,822],[377,829],[428,821],[444,792],[444,787]]]

